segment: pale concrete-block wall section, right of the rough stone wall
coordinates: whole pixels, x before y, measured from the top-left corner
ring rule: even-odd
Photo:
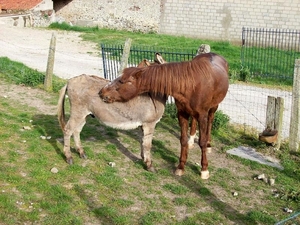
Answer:
[[[298,0],[165,0],[160,33],[240,40],[242,27],[299,29]]]

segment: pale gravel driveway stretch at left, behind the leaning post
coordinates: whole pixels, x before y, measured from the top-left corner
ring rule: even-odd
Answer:
[[[100,50],[79,33],[36,28],[0,27],[0,57],[22,62],[45,72],[52,34],[56,36],[54,74],[71,78],[82,73],[103,76]]]

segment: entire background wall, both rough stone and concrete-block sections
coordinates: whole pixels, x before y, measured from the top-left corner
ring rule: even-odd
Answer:
[[[131,31],[237,41],[242,27],[299,29],[299,0],[73,0],[60,20]]]

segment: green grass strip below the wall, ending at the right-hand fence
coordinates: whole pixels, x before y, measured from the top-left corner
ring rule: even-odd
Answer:
[[[69,26],[68,24],[53,23],[51,29],[81,31],[79,27]],[[241,48],[227,41],[201,40],[184,36],[172,36],[156,33],[129,32],[114,29],[84,29],[81,37],[84,40],[92,41],[97,44],[124,45],[127,38],[132,39],[132,46],[152,47],[156,49],[172,49],[173,51],[196,51],[201,44],[209,44],[211,50],[223,55],[232,69],[240,69]]]

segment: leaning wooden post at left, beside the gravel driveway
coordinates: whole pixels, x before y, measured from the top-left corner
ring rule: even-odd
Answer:
[[[52,91],[52,76],[53,76],[53,67],[54,67],[55,45],[56,45],[56,36],[54,35],[54,33],[52,33],[52,38],[49,47],[46,77],[44,81],[44,88],[46,91]]]

